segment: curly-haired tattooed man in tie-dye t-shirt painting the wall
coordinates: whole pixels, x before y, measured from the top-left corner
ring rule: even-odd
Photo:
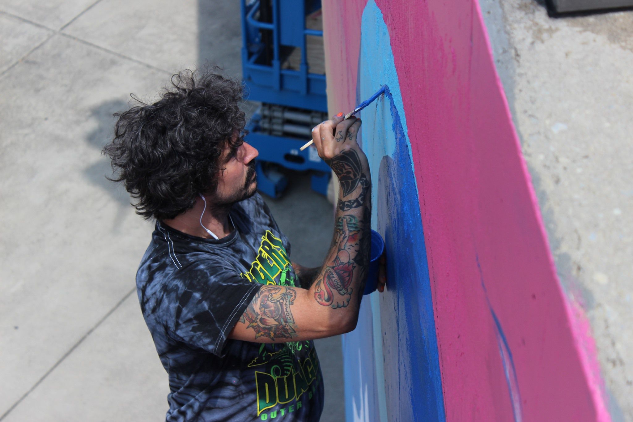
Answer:
[[[337,208],[325,264],[304,268],[256,194],[242,85],[189,71],[172,85],[118,115],[104,148],[137,213],[156,220],[137,292],[169,375],[166,420],[316,421],[323,383],[311,340],[354,329],[367,279],[361,121],[339,113],[312,131],[319,156],[346,181],[339,197],[349,206]]]

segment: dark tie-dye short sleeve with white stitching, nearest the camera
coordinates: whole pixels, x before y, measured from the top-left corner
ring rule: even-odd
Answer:
[[[261,288],[206,261],[182,268],[170,285],[174,336],[220,357],[227,336]]]

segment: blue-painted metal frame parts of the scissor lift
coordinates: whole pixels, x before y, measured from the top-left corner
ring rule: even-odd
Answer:
[[[320,0],[264,0],[270,2],[272,15],[261,22],[256,19],[263,0],[241,0],[242,7],[242,73],[248,86],[248,99],[327,112],[325,75],[308,72],[306,35],[323,36],[322,30],[307,29],[306,15],[320,9]],[[263,37],[266,32],[266,37]],[[301,49],[299,70],[282,69],[284,47]],[[272,54],[270,54],[272,51]],[[266,57],[266,54],[270,54]],[[287,184],[285,177],[270,170],[275,163],[291,170],[311,170],[312,189],[327,195],[330,168],[308,148],[299,151],[310,138],[277,136],[260,126],[258,111],[247,125],[246,140],[260,151],[258,157],[259,189],[279,197]]]

